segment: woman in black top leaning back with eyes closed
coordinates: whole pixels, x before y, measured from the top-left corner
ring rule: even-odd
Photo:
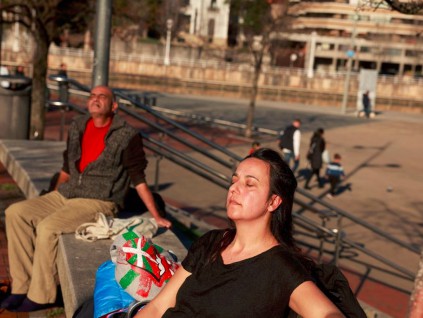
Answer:
[[[259,149],[239,164],[228,191],[234,225],[203,235],[141,317],[343,317],[310,280],[292,237],[297,182],[280,155]]]

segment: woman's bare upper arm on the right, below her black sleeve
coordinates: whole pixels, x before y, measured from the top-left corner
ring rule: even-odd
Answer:
[[[303,318],[341,318],[339,311],[323,292],[311,281],[294,289],[289,299],[289,307]]]

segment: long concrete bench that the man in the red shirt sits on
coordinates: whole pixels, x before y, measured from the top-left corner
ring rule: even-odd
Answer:
[[[0,140],[0,161],[27,198],[48,189],[53,174],[60,170],[64,142]],[[172,250],[182,261],[187,250],[170,230],[159,229],[153,242]],[[110,259],[111,240],[94,243],[77,240],[73,234],[59,239],[57,268],[66,317],[88,300],[94,290],[95,273]]]

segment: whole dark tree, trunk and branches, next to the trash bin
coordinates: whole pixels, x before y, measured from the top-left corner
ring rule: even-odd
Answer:
[[[92,1],[91,1],[92,3]],[[54,38],[70,25],[83,26],[90,2],[82,0],[9,0],[2,2],[2,11],[12,13],[13,21],[23,25],[33,36],[34,71],[31,93],[30,138],[44,138],[46,76],[48,50]]]

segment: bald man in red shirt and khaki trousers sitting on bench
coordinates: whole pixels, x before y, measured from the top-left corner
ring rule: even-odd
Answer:
[[[59,235],[93,221],[98,212],[114,216],[130,182],[157,224],[171,226],[159,215],[145,180],[142,137],[115,115],[118,105],[111,89],[94,87],[87,107],[89,115],[77,117],[69,128],[56,190],[6,209],[12,294],[1,308],[28,312],[51,307],[57,294]]]

